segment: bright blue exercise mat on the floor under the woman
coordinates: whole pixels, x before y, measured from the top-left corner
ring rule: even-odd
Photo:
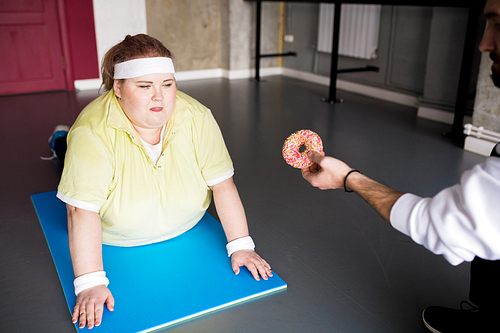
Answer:
[[[66,207],[56,191],[34,194],[42,225],[70,312],[76,302],[68,246]],[[103,245],[103,262],[115,311],[104,311],[92,332],[151,332],[286,289],[273,272],[255,281],[244,267],[235,275],[220,223],[210,214],[173,239],[138,247]],[[77,331],[85,331],[75,325]]]

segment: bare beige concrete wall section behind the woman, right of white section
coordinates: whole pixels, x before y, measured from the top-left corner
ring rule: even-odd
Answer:
[[[264,3],[263,53],[276,53],[279,5]],[[146,0],[147,26],[175,57],[176,71],[253,68],[255,3],[243,0]],[[262,67],[277,65],[263,59]]]

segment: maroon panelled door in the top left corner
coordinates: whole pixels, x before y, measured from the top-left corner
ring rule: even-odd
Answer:
[[[56,0],[0,1],[0,95],[66,89]]]

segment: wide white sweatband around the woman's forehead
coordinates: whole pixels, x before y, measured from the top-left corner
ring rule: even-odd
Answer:
[[[174,63],[167,57],[139,58],[115,65],[114,79],[131,79],[148,74],[175,74]]]

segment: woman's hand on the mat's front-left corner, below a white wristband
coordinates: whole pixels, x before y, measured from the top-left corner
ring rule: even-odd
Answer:
[[[73,324],[79,322],[79,328],[87,325],[88,329],[101,325],[104,303],[109,311],[114,310],[115,299],[106,286],[100,285],[81,291],[73,308]]]

